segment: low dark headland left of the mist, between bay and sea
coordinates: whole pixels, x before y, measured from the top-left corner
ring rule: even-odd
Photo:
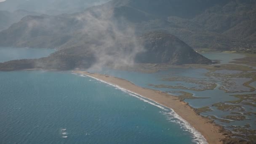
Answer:
[[[68,54],[67,54],[68,53]],[[13,71],[22,69],[57,69],[69,70],[75,67],[89,68],[95,62],[90,51],[80,48],[64,49],[40,59],[22,59],[0,63],[0,71]]]

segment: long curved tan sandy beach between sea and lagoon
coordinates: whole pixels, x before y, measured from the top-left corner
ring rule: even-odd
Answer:
[[[192,127],[199,131],[209,144],[222,144],[221,139],[225,139],[222,128],[214,123],[211,123],[209,119],[198,115],[192,107],[186,102],[180,101],[176,96],[172,96],[168,93],[156,91],[148,88],[141,88],[133,83],[107,75],[91,74],[84,71],[72,71],[77,74],[88,75],[96,79],[102,80],[113,85],[117,85],[133,93],[137,93],[147,99],[162,104],[165,107],[173,109],[179,116],[186,120]]]

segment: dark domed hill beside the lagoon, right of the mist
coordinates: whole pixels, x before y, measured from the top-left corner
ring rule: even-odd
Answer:
[[[179,38],[165,32],[150,32],[139,38],[146,51],[136,56],[139,63],[211,64]]]

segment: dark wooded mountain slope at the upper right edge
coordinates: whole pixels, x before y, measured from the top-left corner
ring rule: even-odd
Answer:
[[[192,21],[200,24],[200,27],[211,32],[218,32],[235,40],[243,40],[245,43],[254,39],[256,32],[256,1],[237,0],[230,1],[226,5],[215,6]]]

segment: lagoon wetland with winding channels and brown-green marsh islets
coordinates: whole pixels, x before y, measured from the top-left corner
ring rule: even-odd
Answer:
[[[175,95],[200,115],[232,131],[234,137],[255,139],[255,67],[229,63],[246,57],[240,53],[201,54],[220,63],[180,66],[140,64],[133,68],[104,69],[102,73]]]

